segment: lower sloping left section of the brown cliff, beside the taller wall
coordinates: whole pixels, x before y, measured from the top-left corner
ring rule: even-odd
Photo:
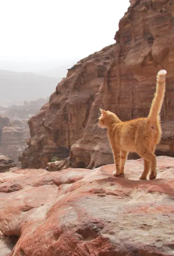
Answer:
[[[31,139],[22,156],[22,168],[45,168],[54,156],[69,157],[72,145],[84,136],[114,47],[108,46],[69,69],[49,103],[29,120]]]

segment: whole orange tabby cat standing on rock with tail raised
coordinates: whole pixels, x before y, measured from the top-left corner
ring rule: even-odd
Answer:
[[[144,170],[139,179],[146,179],[149,170],[149,179],[156,178],[156,155],[154,151],[161,137],[159,113],[165,94],[166,73],[165,70],[160,70],[157,74],[156,93],[147,118],[122,122],[114,113],[100,109],[99,126],[107,128],[108,131],[116,165],[114,176],[124,173],[128,152],[136,152],[144,160]]]

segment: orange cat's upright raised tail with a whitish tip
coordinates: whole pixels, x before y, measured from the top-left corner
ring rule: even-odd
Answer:
[[[165,88],[166,88],[166,70],[160,70],[157,74],[156,79],[156,93],[152,101],[148,119],[149,121],[160,120],[160,111],[163,104]]]

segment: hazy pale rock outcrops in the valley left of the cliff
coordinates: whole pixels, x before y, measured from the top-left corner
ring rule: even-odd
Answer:
[[[26,140],[29,139],[30,117],[36,114],[48,99],[24,102],[24,105],[0,107],[0,152],[12,158],[18,166],[18,158],[22,156],[26,148]]]

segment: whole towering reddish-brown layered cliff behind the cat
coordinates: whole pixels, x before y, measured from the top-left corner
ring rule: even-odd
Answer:
[[[174,1],[131,0],[115,39],[69,69],[49,103],[29,120],[23,167],[45,168],[53,156],[69,155],[73,167],[112,163],[106,132],[97,129],[99,108],[121,120],[147,117],[162,68],[167,90],[156,154],[174,156]]]

